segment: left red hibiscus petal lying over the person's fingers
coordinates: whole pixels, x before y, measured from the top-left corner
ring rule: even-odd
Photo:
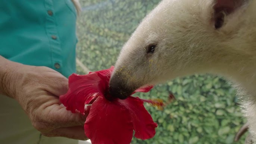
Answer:
[[[69,90],[60,96],[60,102],[66,106],[67,110],[75,113],[77,110],[84,115],[84,106],[89,104],[98,95],[103,96],[102,79],[97,73],[88,75],[77,75],[73,73],[69,76]]]

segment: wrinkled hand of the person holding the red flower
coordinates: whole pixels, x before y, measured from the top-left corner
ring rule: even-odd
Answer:
[[[85,116],[71,113],[60,103],[59,96],[68,91],[68,79],[44,66],[21,65],[10,72],[9,85],[32,125],[48,137],[85,140]],[[8,78],[7,78],[8,79]]]

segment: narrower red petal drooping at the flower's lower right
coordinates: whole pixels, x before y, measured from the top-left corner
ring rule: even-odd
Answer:
[[[134,136],[143,140],[154,137],[157,123],[153,121],[145,109],[143,101],[137,97],[128,97],[125,100],[118,99],[118,101],[129,109],[135,131]]]

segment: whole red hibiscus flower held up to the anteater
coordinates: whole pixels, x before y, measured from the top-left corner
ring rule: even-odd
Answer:
[[[129,144],[133,131],[136,138],[145,140],[154,137],[157,123],[153,122],[143,101],[160,106],[162,103],[132,96],[125,100],[108,100],[106,97],[111,97],[108,88],[113,69],[112,66],[88,75],[72,74],[69,76],[69,90],[60,96],[60,101],[67,110],[83,115],[86,104],[91,104],[84,131],[93,144]],[[135,92],[148,92],[152,87],[139,88]]]

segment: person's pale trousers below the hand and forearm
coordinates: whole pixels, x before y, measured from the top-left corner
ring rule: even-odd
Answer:
[[[78,140],[44,137],[16,100],[0,95],[0,144],[78,144]]]

